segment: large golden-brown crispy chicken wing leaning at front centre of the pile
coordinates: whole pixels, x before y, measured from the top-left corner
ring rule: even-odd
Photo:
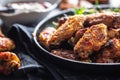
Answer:
[[[107,26],[104,24],[93,25],[87,29],[83,37],[74,47],[74,53],[81,58],[88,58],[93,51],[100,50],[107,41]]]

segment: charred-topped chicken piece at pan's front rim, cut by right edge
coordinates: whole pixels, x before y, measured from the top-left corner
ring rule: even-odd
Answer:
[[[113,38],[109,40],[102,54],[98,56],[96,62],[111,63],[120,61],[120,39]]]

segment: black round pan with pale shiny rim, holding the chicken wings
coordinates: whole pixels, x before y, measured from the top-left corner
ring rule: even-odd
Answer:
[[[53,26],[52,22],[57,21],[59,17],[64,16],[64,14],[67,15],[73,15],[73,10],[66,10],[62,11],[52,17],[45,18],[43,21],[39,22],[39,24],[35,27],[35,30],[33,32],[33,39],[40,50],[38,52],[38,55],[45,56],[47,59],[52,61],[57,66],[62,66],[69,69],[75,69],[75,70],[89,70],[89,71],[118,71],[120,70],[120,63],[88,63],[88,62],[80,62],[75,60],[66,59],[57,55],[54,55],[47,51],[44,47],[42,47],[37,40],[37,37],[39,33],[45,28]]]

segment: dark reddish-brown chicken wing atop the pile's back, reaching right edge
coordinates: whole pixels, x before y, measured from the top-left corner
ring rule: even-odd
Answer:
[[[120,28],[120,13],[103,12],[97,14],[86,15],[85,26],[104,23],[109,28]]]

